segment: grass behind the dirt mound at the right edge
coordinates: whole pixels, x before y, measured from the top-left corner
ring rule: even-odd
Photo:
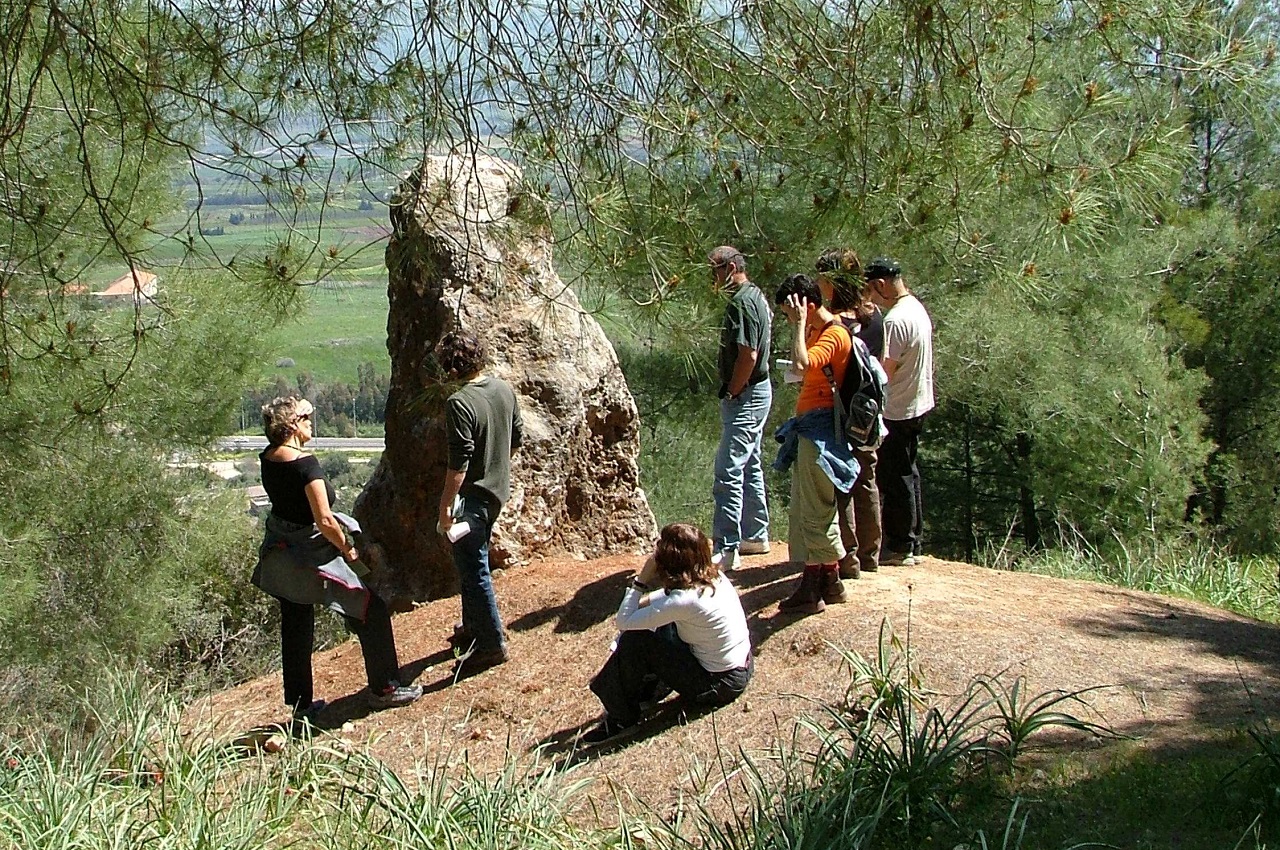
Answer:
[[[984,566],[1103,581],[1121,588],[1194,599],[1266,621],[1280,621],[1274,558],[1240,557],[1212,543],[1116,543],[1098,549],[1079,538],[1023,558],[988,553]]]

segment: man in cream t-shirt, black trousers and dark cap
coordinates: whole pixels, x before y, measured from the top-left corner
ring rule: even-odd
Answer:
[[[881,492],[883,540],[881,565],[911,566],[920,552],[924,503],[916,453],[924,415],[933,410],[933,323],[911,294],[895,260],[877,257],[864,275],[872,300],[884,309],[884,353],[888,375],[884,425],[876,479]]]

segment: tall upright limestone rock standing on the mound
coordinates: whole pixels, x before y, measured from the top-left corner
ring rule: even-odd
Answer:
[[[398,600],[457,589],[435,533],[452,388],[433,349],[458,326],[484,339],[525,420],[493,566],[639,550],[657,534],[635,401],[609,341],[556,274],[545,228],[520,214],[520,178],[497,157],[429,156],[392,201],[387,451],[355,512],[380,589]]]

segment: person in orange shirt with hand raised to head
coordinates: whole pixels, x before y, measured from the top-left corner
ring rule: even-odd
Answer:
[[[840,387],[845,379],[852,338],[822,306],[818,284],[806,274],[790,275],[774,301],[795,324],[791,367],[804,375],[795,416],[774,434],[782,445],[773,469],[791,469],[787,545],[791,561],[804,565],[800,586],[778,604],[778,611],[817,614],[828,604],[849,599],[840,580],[845,547],[836,521],[836,494],[854,486],[858,461],[844,435],[836,434],[831,385],[835,381]],[[826,366],[831,367],[831,379],[823,371]]]

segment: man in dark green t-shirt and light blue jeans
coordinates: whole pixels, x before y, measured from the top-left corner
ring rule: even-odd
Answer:
[[[707,260],[713,285],[730,293],[717,358],[721,442],[712,485],[712,559],[722,570],[733,570],[740,552],[769,550],[760,442],[773,403],[769,385],[773,312],[759,287],[748,279],[741,251],[722,245]]]

